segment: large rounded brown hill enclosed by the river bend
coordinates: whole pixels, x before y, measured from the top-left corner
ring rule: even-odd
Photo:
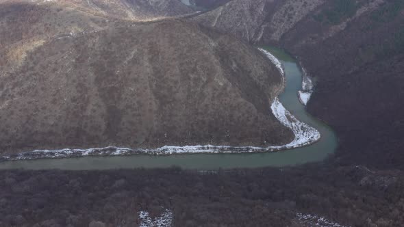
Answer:
[[[282,87],[275,66],[247,44],[192,23],[55,38],[9,67],[0,72],[3,151],[266,146],[293,138],[270,114]]]

